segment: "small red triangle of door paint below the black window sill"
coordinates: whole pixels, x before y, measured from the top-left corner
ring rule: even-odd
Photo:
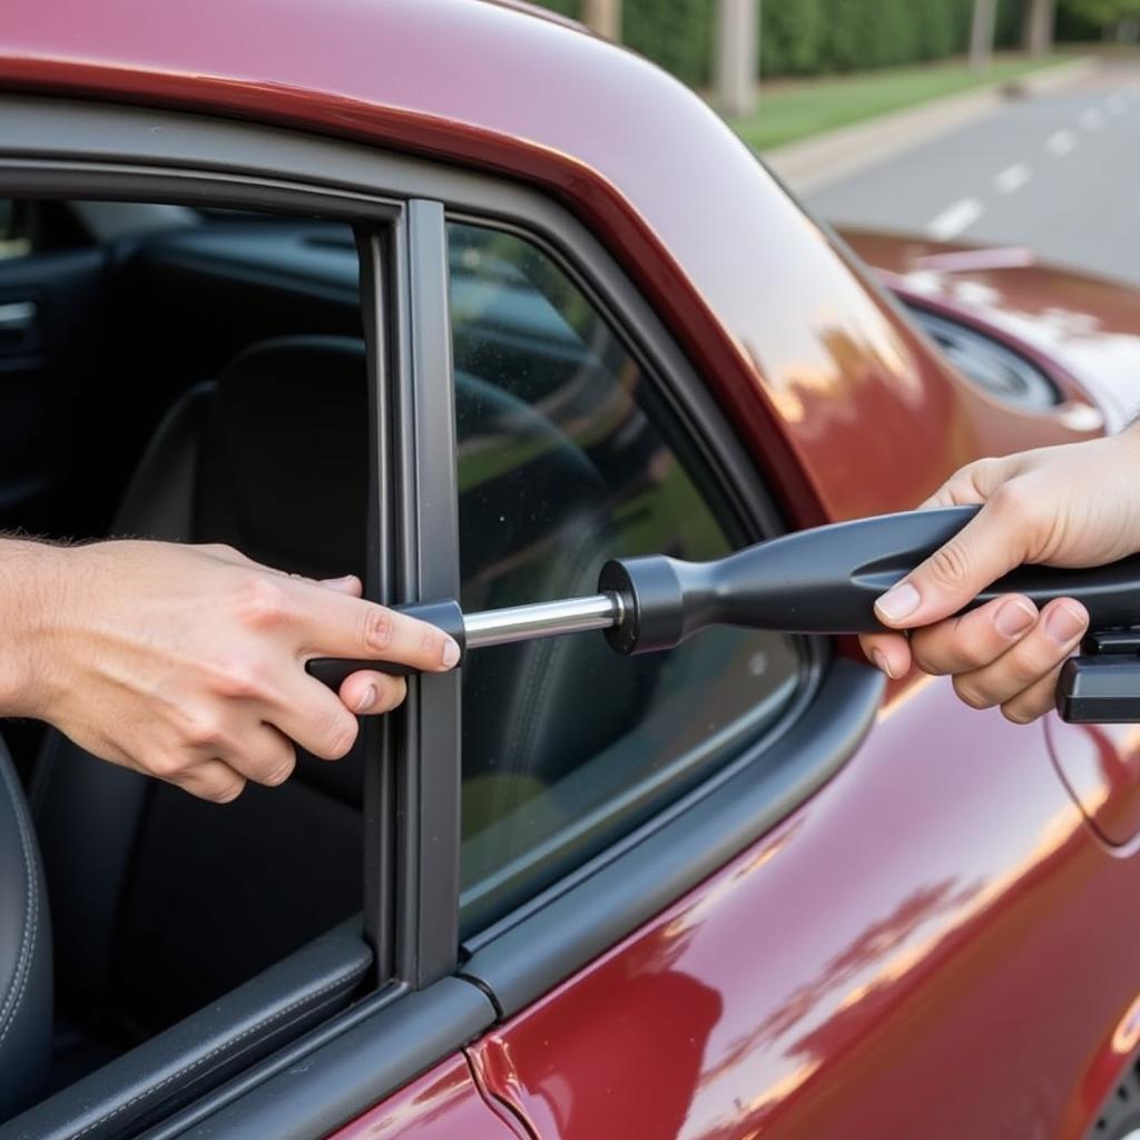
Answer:
[[[527,1140],[500,1108],[483,1100],[463,1057],[405,1085],[328,1140]]]

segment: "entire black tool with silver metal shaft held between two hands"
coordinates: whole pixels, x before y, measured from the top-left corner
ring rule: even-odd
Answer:
[[[874,633],[874,602],[958,534],[976,506],[910,511],[803,530],[758,543],[715,562],[663,554],[608,562],[589,597],[464,614],[454,601],[402,606],[433,621],[461,651],[506,642],[603,629],[619,653],[673,649],[710,626],[798,634]],[[1140,555],[1106,567],[1060,570],[1023,565],[975,597],[966,610],[1001,594],[1037,605],[1075,597],[1089,610],[1085,656],[1058,685],[1061,716],[1077,723],[1140,720],[1140,634],[1105,638],[1140,625]],[[461,661],[463,658],[461,658]],[[401,666],[318,659],[309,671],[339,685],[361,668],[407,674]]]

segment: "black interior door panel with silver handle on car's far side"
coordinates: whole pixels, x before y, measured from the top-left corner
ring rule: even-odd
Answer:
[[[50,526],[42,504],[70,473],[105,264],[98,247],[0,260],[0,528]]]

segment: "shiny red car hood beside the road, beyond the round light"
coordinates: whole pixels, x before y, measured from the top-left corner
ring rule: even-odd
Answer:
[[[1140,410],[1140,290],[1039,262],[1019,246],[971,246],[844,229],[910,303],[984,326],[1075,381],[1115,431]]]

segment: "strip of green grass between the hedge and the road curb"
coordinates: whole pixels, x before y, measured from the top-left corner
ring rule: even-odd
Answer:
[[[971,87],[1009,82],[1066,58],[1004,56],[982,73],[970,71],[958,59],[819,80],[775,80],[762,84],[759,105],[752,114],[730,120],[730,124],[746,142],[764,150]]]

